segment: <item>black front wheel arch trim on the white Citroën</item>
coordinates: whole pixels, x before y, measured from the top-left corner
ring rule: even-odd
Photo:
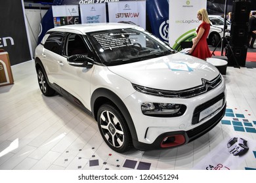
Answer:
[[[131,118],[131,114],[129,113],[129,110],[123,103],[123,101],[116,95],[116,93],[106,89],[106,88],[98,88],[93,92],[91,95],[91,111],[93,113],[93,117],[96,120],[97,111],[100,106],[97,105],[97,99],[100,98],[107,98],[108,101],[111,101],[116,105],[116,107],[121,111],[121,114],[123,114],[123,117],[125,118],[125,121],[127,122],[127,125],[129,127],[131,137],[133,139],[133,143],[138,141],[137,132],[135,129],[135,125],[133,124],[133,119]],[[104,103],[104,101],[102,101]]]

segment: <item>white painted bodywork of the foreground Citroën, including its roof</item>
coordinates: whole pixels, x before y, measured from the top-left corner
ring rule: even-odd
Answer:
[[[85,35],[95,31],[129,27],[142,30],[141,27],[136,25],[113,23],[67,25],[56,27],[49,30],[49,32],[62,31]],[[186,132],[195,127],[200,127],[200,125],[214,118],[215,114],[223,110],[226,105],[226,88],[222,76],[219,85],[212,90],[187,98],[150,95],[139,92],[133,86],[133,84],[136,84],[145,88],[172,92],[198,88],[203,86],[203,80],[211,82],[220,75],[216,67],[202,59],[176,53],[119,65],[94,63],[91,68],[75,67],[68,62],[68,56],[54,54],[44,48],[43,44],[45,44],[48,36],[49,34],[45,35],[41,44],[35,49],[35,58],[37,62],[41,62],[41,67],[45,70],[49,84],[60,86],[62,90],[78,99],[90,112],[93,112],[91,101],[95,91],[103,88],[115,93],[131,116],[131,123],[135,127],[137,136],[133,139],[139,143],[152,144],[161,134]],[[224,95],[221,107],[216,105],[216,109],[210,108],[210,110],[213,110],[212,114],[198,122],[198,124],[192,125],[195,108],[221,94]],[[147,116],[142,113],[142,103],[180,104],[186,106],[186,110],[181,116],[175,117]]]

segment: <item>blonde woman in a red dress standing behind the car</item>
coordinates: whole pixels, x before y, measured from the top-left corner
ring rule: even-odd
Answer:
[[[198,20],[202,21],[196,30],[196,37],[192,39],[193,46],[189,52],[190,55],[206,60],[211,57],[211,52],[207,44],[207,36],[210,30],[210,20],[207,11],[202,8],[198,10]]]

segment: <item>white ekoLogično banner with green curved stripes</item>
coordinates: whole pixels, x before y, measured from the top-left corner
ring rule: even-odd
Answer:
[[[181,42],[192,41],[196,37],[198,10],[206,9],[206,0],[177,1],[169,0],[169,44],[175,50],[181,50]]]

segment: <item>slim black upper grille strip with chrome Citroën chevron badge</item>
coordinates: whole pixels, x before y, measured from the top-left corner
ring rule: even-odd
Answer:
[[[197,95],[201,95],[202,93],[208,92],[209,90],[216,88],[217,86],[219,86],[219,84],[221,84],[222,81],[223,78],[221,75],[217,76],[211,81],[202,79],[202,85],[181,91],[158,90],[154,88],[139,86],[137,84],[133,84],[133,88],[135,88],[135,90],[137,90],[138,92],[145,93],[148,95],[156,95],[160,97],[170,98],[190,98],[195,97]]]

